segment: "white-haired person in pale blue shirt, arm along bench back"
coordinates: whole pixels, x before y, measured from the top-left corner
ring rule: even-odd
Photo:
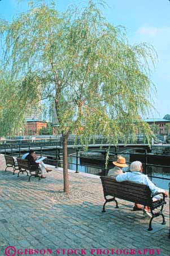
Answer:
[[[147,175],[142,174],[143,167],[142,163],[140,161],[134,161],[130,165],[130,172],[118,175],[116,177],[117,182],[123,182],[123,181],[133,181],[141,184],[145,184],[149,186],[152,195],[154,195],[156,192],[162,192],[165,196],[168,196],[167,191],[163,190],[162,188],[156,187],[154,183],[150,181],[150,179],[147,177]],[[160,196],[154,196],[153,200],[159,200]],[[142,209],[139,204],[135,204],[134,208]],[[149,207],[145,207],[144,213],[147,217],[151,217],[151,213],[149,212]]]

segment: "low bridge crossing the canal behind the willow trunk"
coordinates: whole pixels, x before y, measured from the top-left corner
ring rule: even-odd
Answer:
[[[112,138],[106,139],[102,136],[95,136],[88,138],[88,148],[90,149],[107,149],[112,148],[116,150],[125,150],[125,149],[132,149],[132,148],[144,148],[150,151],[149,144],[146,144],[141,137],[137,137],[136,142],[128,141],[126,145],[122,141],[118,141],[119,143],[115,146],[114,144],[109,144],[108,141],[113,141]],[[71,151],[75,148],[84,148],[85,145],[82,145],[81,137],[76,136],[69,136],[68,137],[68,150]],[[63,148],[63,141],[61,136],[56,137],[41,137],[41,138],[30,138],[30,139],[18,139],[18,140],[1,140],[0,141],[0,152],[6,152],[12,150],[13,152],[20,151],[24,152],[25,150],[28,151],[29,149],[34,150],[49,150],[49,149],[60,149]]]

